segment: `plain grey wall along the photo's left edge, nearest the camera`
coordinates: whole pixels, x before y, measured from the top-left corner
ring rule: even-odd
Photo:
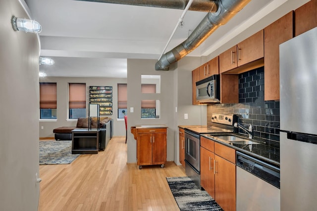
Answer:
[[[29,19],[18,0],[0,0],[0,210],[36,211],[40,43],[13,31],[12,15]]]

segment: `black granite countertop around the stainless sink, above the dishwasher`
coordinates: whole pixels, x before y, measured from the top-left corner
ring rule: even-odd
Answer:
[[[247,136],[244,136],[240,133],[201,134],[201,136],[212,139],[213,141],[216,141],[228,147],[231,147],[235,149],[236,151],[258,158],[264,162],[267,162],[279,168],[280,160],[279,160],[279,144],[278,143],[276,144],[270,143],[270,145],[268,145],[263,139],[255,137],[254,139],[249,139],[249,140],[257,142],[257,144],[235,144],[233,142],[223,141],[217,138],[217,136],[222,136],[222,135],[233,135],[233,136],[248,139]]]

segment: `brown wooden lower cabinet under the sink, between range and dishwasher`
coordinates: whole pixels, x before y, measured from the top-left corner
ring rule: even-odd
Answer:
[[[235,150],[201,137],[201,186],[225,211],[236,210]]]

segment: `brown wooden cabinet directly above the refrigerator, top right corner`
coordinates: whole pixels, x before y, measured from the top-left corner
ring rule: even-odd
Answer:
[[[295,36],[317,27],[317,0],[311,0],[295,10]]]

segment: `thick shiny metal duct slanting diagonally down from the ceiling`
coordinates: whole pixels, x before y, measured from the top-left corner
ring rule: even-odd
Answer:
[[[189,54],[204,42],[219,26],[226,24],[251,0],[215,0],[218,10],[209,12],[188,39],[163,54],[155,64],[156,70],[168,70],[169,66]]]

